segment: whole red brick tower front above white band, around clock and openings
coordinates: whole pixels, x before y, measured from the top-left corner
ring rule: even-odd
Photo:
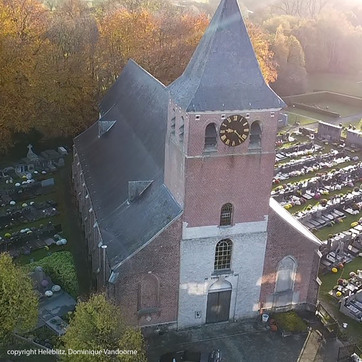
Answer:
[[[184,206],[184,221],[190,227],[218,225],[221,207],[229,202],[234,206],[233,223],[262,221],[268,214],[278,113],[273,117],[271,112],[249,114],[249,124],[261,124],[259,150],[249,151],[250,137],[240,146],[228,147],[217,136],[216,150],[204,152],[206,126],[215,123],[218,133],[222,116],[228,115],[190,118]]]

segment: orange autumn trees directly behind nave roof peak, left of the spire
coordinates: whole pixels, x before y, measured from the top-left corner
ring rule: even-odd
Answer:
[[[129,58],[168,84],[181,75],[208,25],[205,15],[119,8],[99,19],[99,79],[113,84]]]

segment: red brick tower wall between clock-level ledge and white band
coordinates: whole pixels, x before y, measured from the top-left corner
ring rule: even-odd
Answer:
[[[184,221],[219,225],[222,205],[233,205],[233,223],[263,221],[268,214],[274,155],[188,159]]]

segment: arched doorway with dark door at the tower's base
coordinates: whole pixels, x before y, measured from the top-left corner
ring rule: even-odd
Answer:
[[[231,290],[231,284],[224,279],[211,285],[207,295],[206,323],[229,320]]]

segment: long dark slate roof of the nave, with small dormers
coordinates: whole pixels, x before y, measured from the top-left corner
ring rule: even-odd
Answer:
[[[111,267],[182,212],[163,184],[168,99],[164,85],[129,61],[100,105],[100,120],[75,139]],[[130,181],[152,182],[131,183],[132,197],[143,192],[127,202]]]

